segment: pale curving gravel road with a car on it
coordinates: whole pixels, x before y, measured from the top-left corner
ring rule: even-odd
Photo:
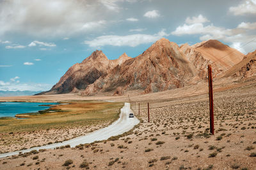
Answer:
[[[113,122],[113,124],[109,125],[108,127],[104,127],[102,129],[91,132],[84,136],[79,136],[77,138],[73,138],[68,141],[63,141],[61,143],[53,143],[51,145],[44,145],[40,147],[29,148],[26,150],[2,153],[0,154],[0,158],[17,155],[19,154],[19,152],[25,153],[25,152],[30,152],[31,150],[53,149],[53,148],[64,146],[64,145],[70,145],[71,147],[74,147],[81,143],[83,144],[92,143],[93,141],[101,141],[101,140],[108,139],[111,136],[117,136],[118,134],[123,134],[124,132],[131,130],[134,127],[134,125],[137,125],[140,122],[136,117],[129,118],[129,113],[132,113],[130,103],[125,103],[124,107],[121,109],[120,117],[118,118],[118,120]]]

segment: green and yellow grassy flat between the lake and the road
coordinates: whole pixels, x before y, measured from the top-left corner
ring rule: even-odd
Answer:
[[[106,127],[118,118],[124,106],[100,101],[67,103],[16,116],[21,119],[0,118],[0,152],[65,141]]]

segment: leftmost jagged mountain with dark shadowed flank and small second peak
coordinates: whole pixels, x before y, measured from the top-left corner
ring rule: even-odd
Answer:
[[[116,60],[108,60],[101,50],[96,50],[90,57],[84,59],[83,62],[70,67],[51,90],[41,94],[63,94],[84,90],[88,85],[100,78],[100,76],[105,76],[113,67],[122,64],[127,59],[131,59],[131,57],[124,53]]]

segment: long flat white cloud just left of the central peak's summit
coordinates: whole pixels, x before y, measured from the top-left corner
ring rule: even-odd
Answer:
[[[84,44],[87,44],[92,47],[99,47],[105,45],[112,46],[138,46],[143,43],[152,43],[157,41],[164,36],[168,36],[164,30],[158,32],[157,34],[131,34],[127,36],[99,36],[91,41],[84,41]]]

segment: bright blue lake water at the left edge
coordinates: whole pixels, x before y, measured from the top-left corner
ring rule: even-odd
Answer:
[[[35,113],[40,110],[47,110],[49,106],[40,106],[45,104],[58,103],[19,103],[3,102],[0,103],[0,117],[15,117],[19,113]]]

